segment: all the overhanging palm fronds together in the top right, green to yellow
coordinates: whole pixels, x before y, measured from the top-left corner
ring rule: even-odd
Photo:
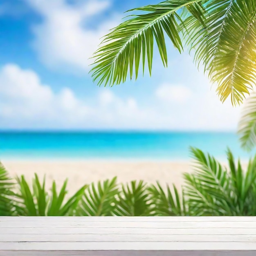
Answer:
[[[221,101],[243,101],[256,81],[256,0],[166,0],[136,8],[103,39],[94,54],[92,77],[115,85],[151,74],[156,43],[167,67],[168,42],[187,47],[198,66],[216,83]]]

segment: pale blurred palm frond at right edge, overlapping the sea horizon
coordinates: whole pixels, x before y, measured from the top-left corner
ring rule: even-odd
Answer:
[[[241,145],[246,150],[252,150],[256,146],[256,93],[253,92],[246,99],[240,121],[238,124],[238,135]]]

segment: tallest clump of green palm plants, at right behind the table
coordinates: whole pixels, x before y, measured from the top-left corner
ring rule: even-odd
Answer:
[[[186,173],[184,194],[191,215],[255,216],[256,156],[243,171],[227,151],[229,171],[214,157],[191,148],[195,159],[194,172]]]

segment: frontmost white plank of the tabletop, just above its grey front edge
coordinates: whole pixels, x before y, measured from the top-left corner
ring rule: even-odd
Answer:
[[[256,243],[237,242],[28,242],[1,243],[1,250],[41,250],[41,251],[131,251],[131,250],[255,250]]]

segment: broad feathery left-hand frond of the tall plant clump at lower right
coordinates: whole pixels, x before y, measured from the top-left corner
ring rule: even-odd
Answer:
[[[230,177],[227,170],[211,155],[191,148],[195,160],[192,174],[185,174],[185,195],[195,215],[233,215]]]

